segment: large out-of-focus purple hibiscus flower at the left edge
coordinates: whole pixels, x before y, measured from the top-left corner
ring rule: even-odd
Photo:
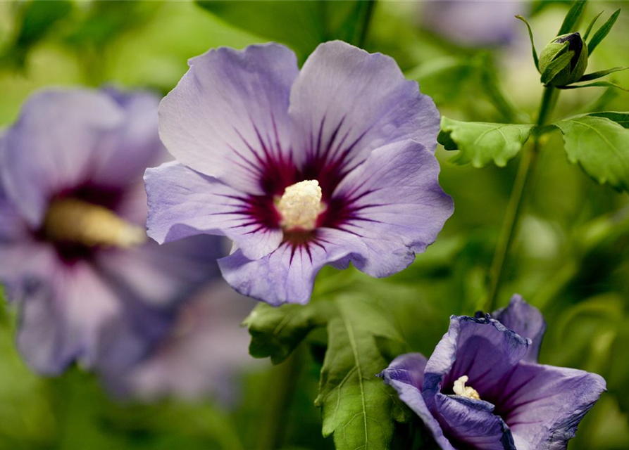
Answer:
[[[218,274],[216,240],[146,242],[142,174],[166,154],[157,108],[146,93],[42,91],[0,139],[0,282],[36,371],[96,366],[110,340],[130,364]]]

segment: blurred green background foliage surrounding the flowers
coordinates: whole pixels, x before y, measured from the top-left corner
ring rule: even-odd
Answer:
[[[561,24],[565,1],[520,1],[538,49]],[[591,2],[584,23],[625,1]],[[527,122],[542,86],[523,24],[505,46],[454,44],[425,26],[436,1],[2,1],[0,126],[47,86],[152,89],[166,94],[186,60],[216,47],[280,41],[301,62],[320,41],[344,39],[393,56],[442,114],[457,120]],[[368,24],[368,27],[366,26]],[[588,72],[629,65],[629,8],[590,60]],[[614,74],[629,86],[629,73]],[[629,110],[629,94],[602,88],[561,94],[557,117],[586,110]],[[374,297],[414,351],[429,355],[450,314],[473,314],[489,270],[517,159],[503,169],[449,162],[437,149],[454,216],[425,255],[385,280],[325,269],[317,290]],[[521,293],[549,323],[543,363],[603,375],[609,393],[580,425],[571,449],[629,448],[629,203],[573,167],[555,132],[542,149],[524,219],[506,266],[499,303]],[[0,316],[0,449],[263,449],[264,433],[285,449],[331,448],[313,406],[325,335],[313,333],[294,358],[298,370],[284,404],[278,367],[242,375],[237,404],[212,399],[134,404],[108,399],[97,380],[73,368],[58,378],[30,373],[15,351],[15,316]],[[281,403],[281,402],[280,402]],[[287,411],[278,417],[276,408]]]

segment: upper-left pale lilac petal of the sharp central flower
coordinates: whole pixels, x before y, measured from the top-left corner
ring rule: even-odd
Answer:
[[[221,47],[189,60],[161,101],[159,134],[178,161],[243,192],[261,193],[261,165],[289,155],[290,86],[297,57],[285,46]]]

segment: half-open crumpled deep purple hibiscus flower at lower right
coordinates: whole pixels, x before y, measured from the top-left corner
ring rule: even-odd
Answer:
[[[428,361],[404,354],[379,376],[444,450],[566,449],[605,380],[538,364],[546,323],[519,295],[492,316],[451,316]]]

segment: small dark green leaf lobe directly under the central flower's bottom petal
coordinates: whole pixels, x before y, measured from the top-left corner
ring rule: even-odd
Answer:
[[[325,326],[330,307],[330,302],[281,307],[258,304],[243,322],[251,335],[249,354],[255,358],[270,356],[273,364],[280,364],[311,330]]]

